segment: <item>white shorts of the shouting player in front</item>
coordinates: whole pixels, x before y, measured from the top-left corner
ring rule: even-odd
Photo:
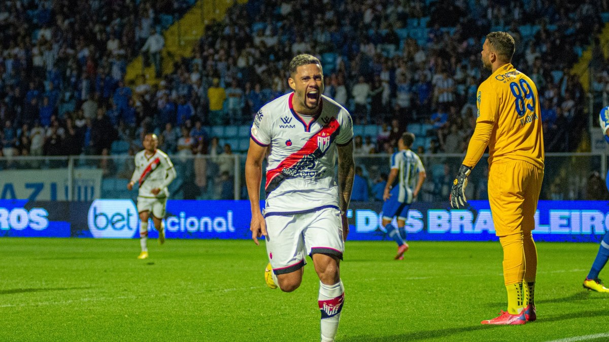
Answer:
[[[338,208],[323,208],[304,214],[270,214],[265,217],[266,248],[275,274],[286,274],[305,266],[306,256],[330,254],[342,260],[342,220]]]

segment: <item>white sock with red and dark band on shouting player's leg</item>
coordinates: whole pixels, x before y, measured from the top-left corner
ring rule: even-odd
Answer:
[[[334,341],[336,330],[339,328],[340,312],[345,299],[345,287],[339,280],[334,285],[319,282],[319,310],[322,312],[321,330],[322,342]]]

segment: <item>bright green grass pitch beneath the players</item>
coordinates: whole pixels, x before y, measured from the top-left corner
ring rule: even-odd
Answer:
[[[337,341],[609,339],[609,295],[585,291],[594,243],[538,243],[538,321],[482,326],[505,309],[498,242],[347,242]],[[298,290],[264,285],[245,240],[0,239],[1,341],[319,341],[312,263]],[[604,270],[600,277],[609,274]]]

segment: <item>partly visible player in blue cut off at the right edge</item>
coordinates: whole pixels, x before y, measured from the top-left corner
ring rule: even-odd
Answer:
[[[603,130],[605,141],[609,142],[609,107],[605,107],[600,111],[599,124],[600,129]],[[609,171],[607,176],[605,176],[605,182],[607,189],[609,189]],[[605,267],[607,259],[609,259],[609,231],[605,232],[605,236],[600,241],[599,253],[596,254],[592,268],[590,268],[590,273],[588,273],[588,276],[583,281],[584,288],[609,293],[609,288],[605,287],[599,279],[599,273]]]

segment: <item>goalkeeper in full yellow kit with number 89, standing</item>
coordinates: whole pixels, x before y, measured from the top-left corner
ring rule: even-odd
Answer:
[[[537,249],[531,232],[543,181],[543,133],[537,87],[511,64],[514,50],[507,32],[491,32],[484,41],[482,63],[492,74],[478,88],[476,130],[450,195],[452,208],[465,206],[467,176],[488,145],[488,200],[503,248],[507,312],[482,324],[537,319]]]

